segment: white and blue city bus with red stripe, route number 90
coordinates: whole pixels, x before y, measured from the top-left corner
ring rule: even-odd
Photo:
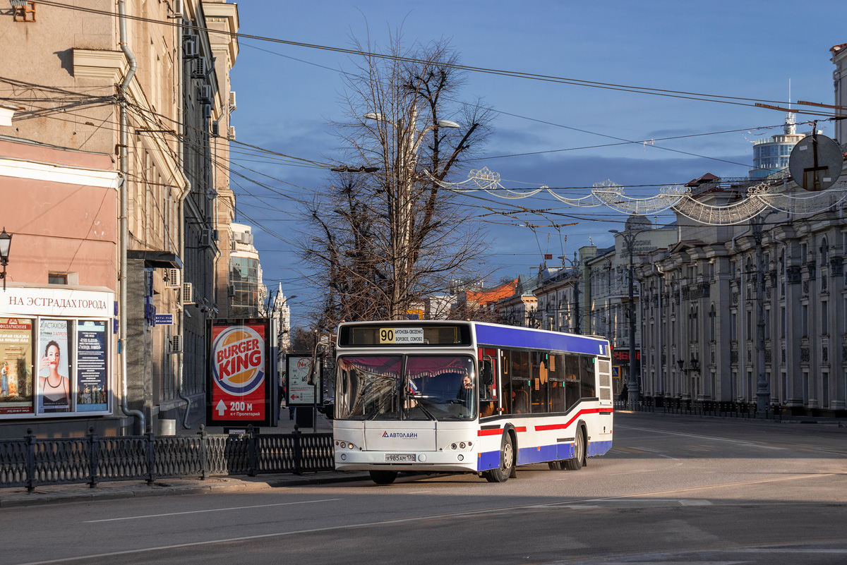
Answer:
[[[475,321],[338,328],[335,469],[388,484],[401,471],[580,469],[612,447],[609,342]]]

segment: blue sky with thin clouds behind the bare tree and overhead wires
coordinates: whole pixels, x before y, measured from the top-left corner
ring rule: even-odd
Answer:
[[[829,48],[847,41],[844,4],[828,0],[804,4],[250,0],[239,3],[239,16],[241,33],[253,36],[350,48],[352,37],[364,41],[368,33],[385,46],[390,32],[401,30],[407,43],[449,40],[469,66],[616,85],[787,102],[790,80],[793,101],[828,104],[833,103],[834,69]],[[340,72],[352,70],[353,64],[346,54],[242,39],[232,71],[238,99],[238,111],[232,116],[237,139],[314,161],[337,157],[338,140],[329,123],[344,119]],[[757,128],[776,126],[784,118],[783,112],[756,107],[471,73],[462,98],[476,97],[506,112],[495,118],[483,156],[572,151],[487,159],[473,166],[500,173],[507,188],[545,184],[570,187],[573,195],[587,195],[589,189],[576,187],[606,179],[634,187],[683,184],[703,173],[746,176],[752,164],[752,140],[781,131]],[[737,129],[749,131],[655,143],[693,155],[648,144],[578,149],[616,142],[603,135],[655,140]],[[833,132],[829,123],[818,129]],[[255,162],[256,157],[236,154],[233,159],[235,170],[297,198],[318,191],[327,178],[318,168],[270,164],[267,159]],[[292,311],[302,322],[297,310],[304,310],[301,304],[315,298],[317,289],[291,267],[298,262],[296,255],[280,240],[290,239],[298,230],[291,216],[293,205],[268,189],[241,178],[238,182],[241,186],[233,186],[238,195],[237,221],[254,226],[266,283],[275,288],[280,281],[283,292],[297,295]],[[657,189],[630,188],[627,194],[646,196]],[[518,203],[559,206],[562,212],[585,218],[577,226],[562,228],[562,235],[568,236],[568,256],[588,244],[589,237],[594,244],[612,244],[607,230],[622,228],[626,219],[607,209],[587,214],[567,209],[550,197]],[[544,222],[539,217],[526,220]],[[562,219],[566,221],[573,220]],[[499,276],[537,270],[541,253],[562,255],[560,234],[552,228],[534,234],[527,228],[492,224],[485,237],[492,243]]]

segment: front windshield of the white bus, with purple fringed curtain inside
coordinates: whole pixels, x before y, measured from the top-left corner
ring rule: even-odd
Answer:
[[[338,420],[473,420],[477,379],[467,355],[359,355],[338,359]]]

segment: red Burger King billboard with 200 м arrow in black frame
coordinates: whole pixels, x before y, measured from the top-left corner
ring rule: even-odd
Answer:
[[[211,321],[206,421],[272,425],[268,320]]]

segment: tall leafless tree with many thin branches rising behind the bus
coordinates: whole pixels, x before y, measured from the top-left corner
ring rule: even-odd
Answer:
[[[305,218],[302,256],[327,282],[324,328],[401,319],[456,279],[487,274],[479,222],[441,183],[487,136],[490,111],[455,100],[464,74],[444,41],[405,49],[394,36],[390,58],[357,47],[366,54],[347,74],[350,121],[336,124],[346,166]]]

